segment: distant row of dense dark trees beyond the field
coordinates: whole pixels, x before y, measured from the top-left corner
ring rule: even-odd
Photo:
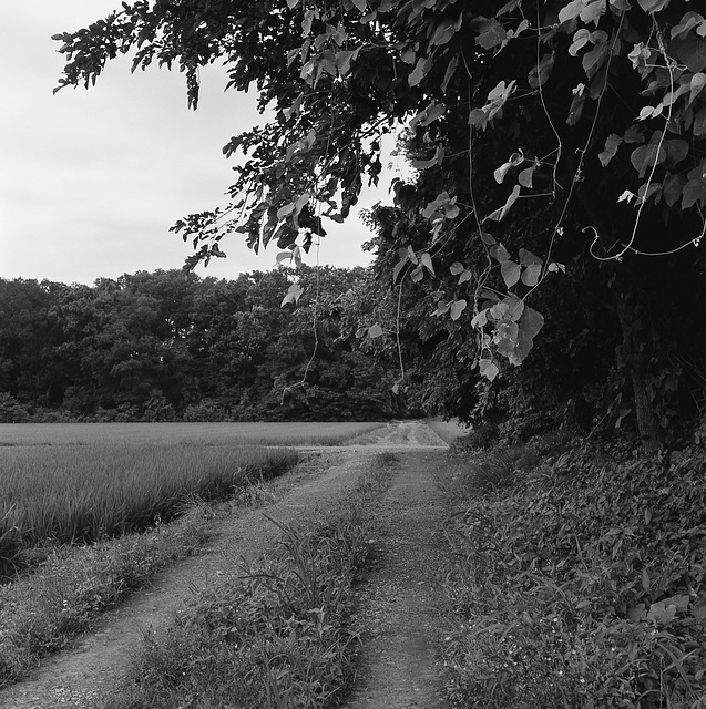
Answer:
[[[300,298],[283,306],[294,285]],[[374,288],[362,268],[306,266],[0,279],[0,421],[400,415],[392,358],[359,337]]]

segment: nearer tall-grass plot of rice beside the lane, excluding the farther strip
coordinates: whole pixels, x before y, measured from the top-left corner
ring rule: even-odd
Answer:
[[[20,547],[92,542],[167,521],[294,465],[258,446],[95,444],[0,448],[0,563]]]

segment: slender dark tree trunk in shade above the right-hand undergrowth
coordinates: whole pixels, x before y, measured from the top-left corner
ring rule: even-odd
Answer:
[[[651,395],[648,338],[646,320],[637,298],[617,295],[617,315],[623,331],[623,359],[630,373],[635,400],[635,421],[646,453],[656,453],[661,445],[659,425]]]

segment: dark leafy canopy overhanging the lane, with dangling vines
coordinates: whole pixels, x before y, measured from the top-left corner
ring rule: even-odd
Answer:
[[[389,279],[428,284],[429,312],[464,325],[490,381],[528,357],[545,315],[562,315],[552,281],[573,279],[620,323],[638,428],[656,442],[644,393],[666,340],[656,314],[697,300],[703,274],[695,3],[142,0],[55,39],[60,88],[89,86],[132,52],[133,69],[178,66],[196,107],[198,70],[219,61],[228,89],[255,88],[275,110],[224,146],[247,156],[228,206],[173,227],[193,239],[192,266],[222,256],[232,233],[297,261],[377,182],[381,137],[403,127],[418,176],[374,216]]]

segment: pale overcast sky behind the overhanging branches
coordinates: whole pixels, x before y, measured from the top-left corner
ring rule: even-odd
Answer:
[[[225,204],[232,135],[265,120],[254,93],[224,92],[225,71],[202,72],[199,106],[186,105],[184,76],[156,66],[130,73],[109,63],[95,86],[52,95],[63,68],[52,34],[120,8],[119,0],[22,0],[0,10],[0,278],[91,285],[137,270],[181,268],[191,244],[168,232],[180,217]],[[391,175],[388,174],[388,179]],[[359,208],[389,201],[368,191]],[[321,264],[366,266],[371,234],[359,218],[330,223]],[[226,259],[201,276],[267,270],[277,249],[257,256],[237,235]],[[305,263],[316,263],[314,251]]]

